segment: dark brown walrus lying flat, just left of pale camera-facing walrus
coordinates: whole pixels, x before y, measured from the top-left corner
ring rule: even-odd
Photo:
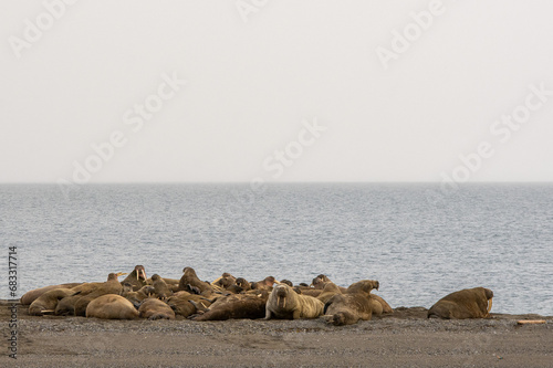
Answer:
[[[204,314],[192,316],[194,320],[226,320],[241,318],[263,318],[269,292],[255,294],[233,294],[218,298]],[[195,304],[195,303],[192,303]]]

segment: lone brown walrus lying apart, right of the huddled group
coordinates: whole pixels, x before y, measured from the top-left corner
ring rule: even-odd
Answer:
[[[492,305],[493,292],[484,287],[465,288],[444,296],[428,309],[428,318],[486,318]]]

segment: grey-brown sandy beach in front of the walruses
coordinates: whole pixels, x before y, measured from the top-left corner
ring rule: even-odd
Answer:
[[[552,367],[553,317],[427,319],[422,307],[335,327],[322,319],[102,320],[18,311],[18,359],[1,367]],[[519,326],[519,319],[545,319]]]

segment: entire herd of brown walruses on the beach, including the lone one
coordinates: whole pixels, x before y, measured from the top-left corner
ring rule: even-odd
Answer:
[[[310,285],[293,285],[273,276],[248,282],[223,273],[213,282],[201,281],[194,269],[185,267],[180,280],[155,274],[146,277],[137,265],[125,273],[111,273],[106,282],[51,285],[28,292],[21,304],[29,314],[86,316],[104,319],[223,320],[232,318],[324,318],[336,326],[394,313],[380,296],[375,280],[362,280],[348,287],[334,284],[321,274]],[[429,318],[484,318],[491,309],[493,292],[466,288],[439,299],[428,311]]]

